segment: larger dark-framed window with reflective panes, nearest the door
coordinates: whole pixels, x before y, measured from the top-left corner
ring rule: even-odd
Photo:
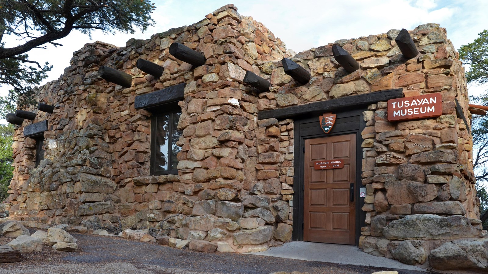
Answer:
[[[178,130],[181,110],[153,115],[151,119],[151,175],[177,174],[176,145],[182,131]]]

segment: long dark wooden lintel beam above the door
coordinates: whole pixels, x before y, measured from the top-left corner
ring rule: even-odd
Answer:
[[[372,93],[352,95],[343,98],[330,99],[326,101],[313,102],[305,105],[291,106],[285,108],[277,108],[273,110],[264,110],[258,112],[258,120],[277,118],[287,119],[293,117],[300,117],[303,115],[322,115],[325,112],[344,110],[361,105],[373,104],[389,99],[402,98],[403,89],[391,89],[384,91],[377,91]]]

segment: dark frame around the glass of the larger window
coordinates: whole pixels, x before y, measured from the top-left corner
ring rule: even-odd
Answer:
[[[168,168],[171,167],[171,161],[172,161],[172,156],[171,156],[171,143],[173,142],[173,132],[175,130],[178,130],[178,128],[173,128],[173,124],[171,121],[173,120],[173,116],[177,113],[182,112],[182,109],[176,105],[176,106],[161,106],[162,109],[166,109],[164,112],[153,112],[153,115],[151,117],[151,155],[150,155],[150,175],[167,175],[167,174],[178,174],[178,169],[170,169],[170,170],[165,170],[165,171],[158,171],[156,168],[156,149],[157,149],[157,143],[156,143],[156,136],[157,136],[157,123],[158,123],[158,117],[163,117],[169,114],[169,129],[168,129],[168,138],[167,138],[167,143],[168,143],[168,159],[166,162],[168,163]]]

